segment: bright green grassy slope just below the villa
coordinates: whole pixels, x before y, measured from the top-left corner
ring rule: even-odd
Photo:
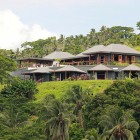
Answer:
[[[91,88],[93,94],[95,95],[96,93],[103,92],[112,83],[112,80],[45,82],[38,84],[39,92],[35,95],[35,97],[37,102],[41,101],[47,94],[55,94],[57,98],[60,98],[72,85],[80,85],[83,89]]]

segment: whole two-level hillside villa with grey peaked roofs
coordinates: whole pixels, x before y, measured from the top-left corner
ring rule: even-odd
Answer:
[[[140,52],[122,44],[97,45],[74,56],[55,51],[43,58],[18,59],[19,71],[36,81],[140,78]]]

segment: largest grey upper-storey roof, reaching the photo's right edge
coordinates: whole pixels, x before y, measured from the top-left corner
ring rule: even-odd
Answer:
[[[110,44],[105,48],[101,49],[100,52],[105,53],[125,53],[125,54],[137,54],[140,55],[140,52],[136,51],[135,49],[128,47],[122,44]]]

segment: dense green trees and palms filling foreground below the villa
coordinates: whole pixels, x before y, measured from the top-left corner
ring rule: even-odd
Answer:
[[[139,140],[140,81],[93,89],[75,82],[59,98],[50,91],[36,102],[36,83],[13,80],[0,93],[0,139]]]

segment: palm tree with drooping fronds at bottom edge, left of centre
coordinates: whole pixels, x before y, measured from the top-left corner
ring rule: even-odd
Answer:
[[[51,100],[46,105],[46,134],[48,140],[69,140],[69,125],[71,114],[66,105],[57,99]]]

